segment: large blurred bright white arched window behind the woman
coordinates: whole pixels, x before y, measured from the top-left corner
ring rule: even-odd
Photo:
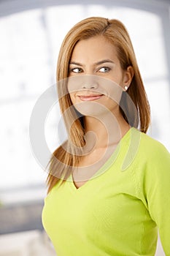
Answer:
[[[117,18],[127,27],[150,100],[150,135],[170,150],[169,75],[159,15],[112,4],[58,5],[16,12],[0,18],[0,189],[45,182],[47,173],[31,152],[29,118],[36,100],[55,83],[58,51],[66,32],[92,15]],[[59,115],[58,106],[55,108]],[[51,151],[59,143],[54,109],[45,129]]]

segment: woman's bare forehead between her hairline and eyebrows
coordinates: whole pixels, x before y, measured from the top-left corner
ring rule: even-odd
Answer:
[[[98,61],[98,59],[117,59],[115,45],[104,36],[82,39],[74,46],[72,61]]]

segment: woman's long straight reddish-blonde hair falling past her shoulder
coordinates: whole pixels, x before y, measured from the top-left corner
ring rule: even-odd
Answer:
[[[66,128],[69,127],[69,139],[53,152],[50,159],[48,165],[49,175],[47,177],[48,192],[50,192],[50,189],[59,180],[66,180],[72,173],[72,167],[80,162],[81,149],[85,145],[85,131],[82,117],[78,115],[77,110],[72,106],[72,101],[67,91],[66,78],[69,76],[69,61],[74,46],[82,39],[88,39],[98,35],[109,39],[109,42],[112,42],[115,46],[123,70],[127,69],[128,66],[132,66],[134,69],[134,77],[127,93],[136,107],[137,119],[135,118],[134,120],[131,109],[128,109],[128,102],[125,99],[125,95],[120,100],[120,102],[123,102],[128,116],[132,116],[132,120],[134,120],[134,124],[131,124],[131,126],[138,127],[142,132],[147,132],[150,125],[150,105],[147,101],[134,48],[123,23],[119,20],[109,20],[100,17],[91,17],[80,21],[66,34],[58,56],[58,98],[65,126]],[[121,112],[125,120],[128,121],[123,110]]]

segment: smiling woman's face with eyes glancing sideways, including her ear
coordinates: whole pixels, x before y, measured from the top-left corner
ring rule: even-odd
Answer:
[[[85,116],[93,115],[96,107],[100,113],[105,110],[114,113],[119,109],[125,84],[131,83],[129,69],[120,67],[115,46],[103,36],[80,40],[69,63],[68,90],[72,104]]]

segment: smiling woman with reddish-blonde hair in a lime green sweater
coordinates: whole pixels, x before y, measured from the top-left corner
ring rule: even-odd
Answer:
[[[150,107],[128,32],[86,18],[58,56],[68,140],[49,163],[42,221],[58,256],[170,255],[170,155],[145,133]]]

